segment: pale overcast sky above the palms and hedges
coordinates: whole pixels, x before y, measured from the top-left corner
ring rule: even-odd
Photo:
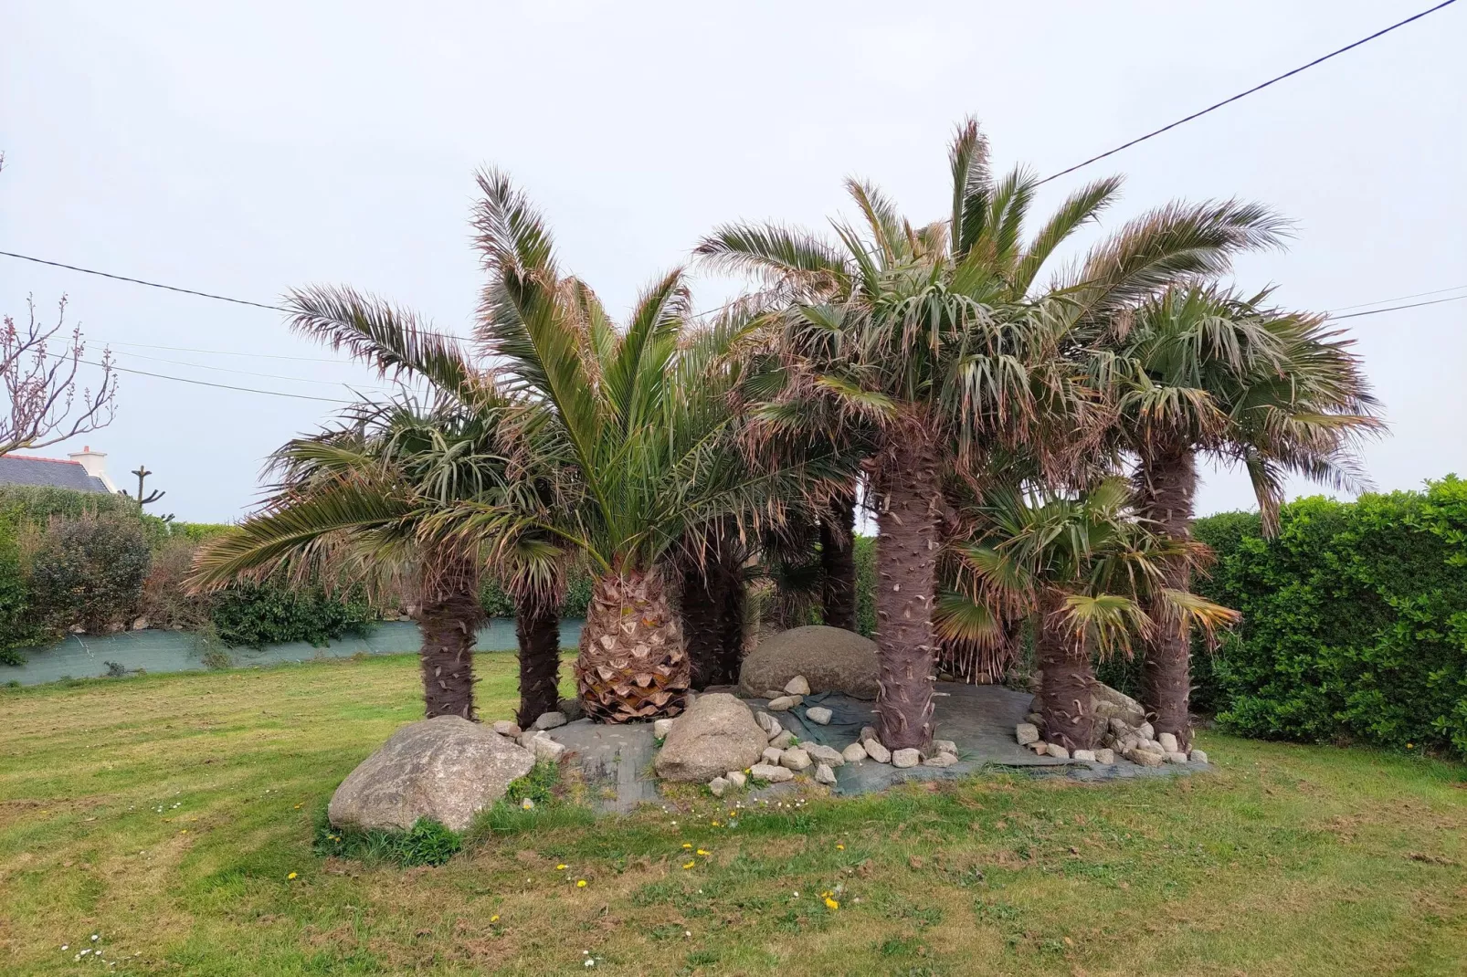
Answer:
[[[623,310],[719,222],[823,226],[848,175],[914,220],[943,216],[965,114],[1000,166],[1047,175],[1430,4],[700,6],[7,0],[0,249],[261,302],[349,283],[462,333],[471,176],[496,164],[565,267]],[[1467,3],[1056,180],[1039,211],[1119,172],[1111,227],[1174,198],[1295,220],[1287,254],[1238,270],[1285,304],[1467,286],[1464,41]],[[728,289],[704,282],[697,305]],[[128,368],[323,398],[376,386],[277,314],[0,258],[0,310],[28,293],[47,312],[69,295]],[[1467,475],[1467,301],[1348,324],[1392,430],[1366,452],[1375,484]],[[264,456],[332,405],[126,374],[117,409],[78,440],[119,484],[147,464],[157,511],[229,521]],[[1250,506],[1241,474],[1207,477],[1203,512]]]

